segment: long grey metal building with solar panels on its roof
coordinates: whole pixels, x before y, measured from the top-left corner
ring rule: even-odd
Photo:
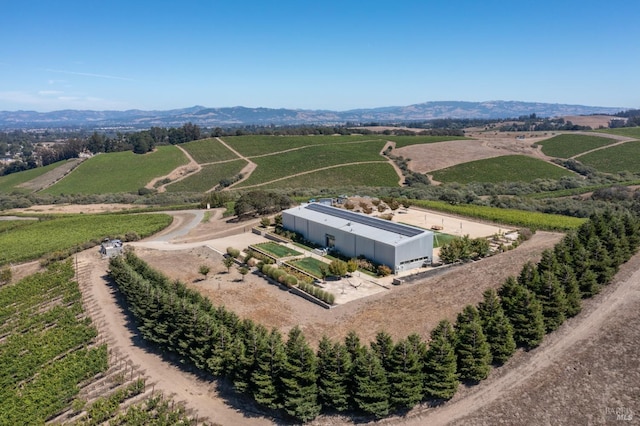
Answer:
[[[282,212],[282,226],[348,257],[364,256],[394,273],[431,264],[433,232],[310,203]]]

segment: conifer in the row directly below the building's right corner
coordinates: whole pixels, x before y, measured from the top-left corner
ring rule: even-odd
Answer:
[[[442,320],[431,332],[431,342],[424,357],[424,394],[427,398],[450,399],[458,390],[451,323]]]

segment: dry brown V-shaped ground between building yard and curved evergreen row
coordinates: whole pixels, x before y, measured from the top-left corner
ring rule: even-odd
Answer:
[[[455,319],[466,304],[475,304],[482,292],[497,287],[521,265],[537,261],[542,250],[552,247],[560,234],[538,232],[518,249],[452,268],[434,278],[392,286],[375,295],[358,299],[331,310],[304,301],[263,278],[248,274],[242,281],[235,268],[227,273],[222,255],[207,248],[160,251],[136,248],[136,253],[172,279],[180,279],[243,317],[287,332],[300,325],[310,341],[327,335],[342,340],[355,330],[363,341],[372,340],[385,330],[394,338],[417,332],[428,336],[443,318]],[[211,267],[207,279],[198,273],[201,264]],[[470,281],[469,276],[474,280]],[[410,319],[410,320],[408,320]]]

